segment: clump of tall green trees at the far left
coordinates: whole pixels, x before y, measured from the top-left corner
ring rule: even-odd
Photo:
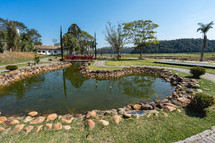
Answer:
[[[35,29],[28,29],[25,24],[0,18],[0,52],[32,51],[35,45],[42,45],[41,35]],[[2,32],[4,31],[4,32]],[[6,46],[6,49],[3,49]]]

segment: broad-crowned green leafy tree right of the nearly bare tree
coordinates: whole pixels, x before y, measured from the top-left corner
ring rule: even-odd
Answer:
[[[153,23],[151,20],[135,20],[123,25],[126,36],[132,39],[136,49],[140,51],[140,59],[143,59],[142,52],[144,48],[151,44],[159,43],[155,37],[156,31],[154,31],[159,25]]]

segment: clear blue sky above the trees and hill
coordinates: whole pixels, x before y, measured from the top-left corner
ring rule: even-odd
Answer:
[[[215,22],[215,0],[0,0],[0,18],[19,21],[42,35],[44,45],[53,45],[76,23],[94,35],[97,47],[109,46],[104,39],[107,22],[152,20],[158,24],[158,40],[202,38],[197,23]],[[208,32],[215,40],[215,26]]]

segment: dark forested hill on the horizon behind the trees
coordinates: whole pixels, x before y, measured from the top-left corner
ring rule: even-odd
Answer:
[[[162,40],[159,44],[146,47],[143,53],[191,53],[200,52],[202,48],[202,39],[176,39]],[[103,47],[97,50],[98,54],[103,51],[104,54],[110,54],[110,47]],[[207,41],[205,52],[215,52],[215,40]],[[116,51],[114,52],[116,53]],[[139,53],[133,47],[124,48],[121,53]]]

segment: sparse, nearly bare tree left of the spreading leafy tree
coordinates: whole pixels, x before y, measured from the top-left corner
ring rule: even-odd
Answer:
[[[117,60],[119,60],[120,51],[125,45],[126,36],[123,32],[122,24],[118,23],[117,27],[110,22],[106,25],[105,40],[110,44],[113,49],[117,51]]]

